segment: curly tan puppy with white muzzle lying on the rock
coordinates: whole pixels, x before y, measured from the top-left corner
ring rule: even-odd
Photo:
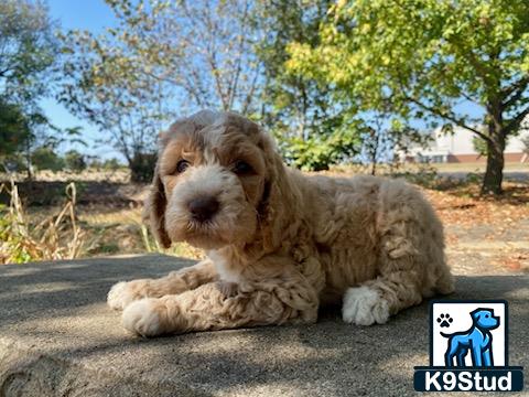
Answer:
[[[343,301],[347,323],[386,323],[453,291],[443,228],[401,181],[306,176],[250,120],[201,111],[160,137],[145,216],[164,246],[207,259],[161,279],[119,282],[108,304],[133,333],[316,321]]]

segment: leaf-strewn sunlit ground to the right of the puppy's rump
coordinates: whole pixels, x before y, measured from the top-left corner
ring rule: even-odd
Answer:
[[[443,221],[456,275],[529,272],[529,185],[507,184],[499,201],[461,190],[424,190]]]

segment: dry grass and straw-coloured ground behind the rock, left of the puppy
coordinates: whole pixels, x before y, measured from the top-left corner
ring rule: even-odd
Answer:
[[[26,208],[14,181],[0,185],[9,205],[0,204],[0,264],[74,259],[107,255],[161,253],[202,259],[185,243],[163,249],[141,222],[139,207],[111,204],[78,206],[76,185],[66,186],[60,206]]]

